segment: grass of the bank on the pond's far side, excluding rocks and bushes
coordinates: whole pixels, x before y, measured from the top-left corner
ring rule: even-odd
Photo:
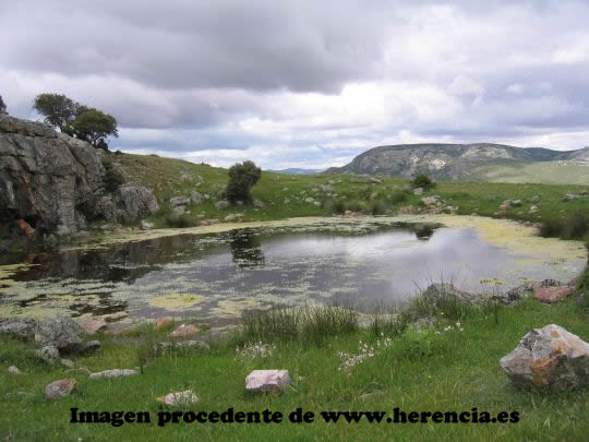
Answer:
[[[214,168],[211,166],[195,165],[178,159],[160,158],[155,156],[121,155],[117,157],[121,163],[125,175],[131,179],[136,179],[143,184],[153,189],[160,203],[173,195],[190,195],[194,190],[201,193],[218,195],[223,186],[226,184],[228,176],[227,169]],[[182,176],[192,176],[193,181],[182,179]],[[194,186],[197,178],[204,180],[202,186]],[[323,193],[313,193],[311,190],[316,184],[333,184],[333,193],[336,198],[327,198]],[[214,201],[209,200],[199,206],[191,206],[189,217],[196,218],[196,215],[204,213],[207,218],[224,218],[229,213],[240,212],[244,214],[245,220],[267,220],[280,219],[293,216],[328,216],[330,211],[323,204],[316,207],[304,202],[305,196],[313,196],[322,203],[329,200],[338,200],[346,196],[346,201],[370,201],[370,195],[377,193],[376,200],[382,201],[386,208],[396,211],[400,205],[418,205],[421,196],[408,195],[408,201],[402,203],[392,203],[387,195],[393,195],[399,191],[407,181],[397,178],[385,178],[384,184],[365,184],[358,182],[353,176],[294,176],[273,172],[263,172],[262,179],[253,188],[253,196],[260,199],[265,207],[256,211],[253,206],[228,207],[217,211]],[[509,183],[488,183],[488,182],[444,182],[434,189],[432,194],[437,194],[445,199],[448,204],[459,206],[459,214],[470,215],[476,208],[481,215],[491,216],[497,211],[502,201],[520,199],[525,205],[519,208],[510,208],[506,216],[509,218],[520,218],[538,220],[537,216],[527,215],[528,208],[532,205],[527,200],[533,195],[541,198],[537,205],[540,208],[540,217],[565,216],[577,210],[589,211],[589,199],[572,202],[562,202],[564,193],[576,193],[584,186],[549,186],[549,184],[509,184]],[[301,192],[306,192],[302,194]],[[297,198],[299,200],[297,200]],[[285,204],[285,199],[290,203]],[[564,212],[561,212],[564,211]],[[518,215],[518,212],[524,212]],[[157,226],[163,226],[164,220],[157,216],[152,218]]]

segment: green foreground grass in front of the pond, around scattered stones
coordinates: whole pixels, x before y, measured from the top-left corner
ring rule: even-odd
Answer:
[[[328,327],[321,345],[294,339],[274,339],[273,350],[260,357],[237,358],[232,341],[214,344],[209,351],[166,353],[144,363],[137,377],[91,381],[80,372],[45,366],[27,347],[2,338],[0,343],[0,435],[8,440],[584,440],[589,431],[589,392],[537,392],[512,386],[498,367],[533,327],[558,323],[585,341],[589,322],[574,301],[545,306],[532,299],[504,308],[500,322],[481,309],[454,320],[437,318],[434,331],[406,327],[400,334],[375,335],[371,327],[333,334]],[[313,319],[311,321],[314,321]],[[318,321],[322,322],[322,321]],[[450,328],[449,328],[450,327]],[[464,331],[460,332],[459,328]],[[410,332],[408,332],[410,330]],[[143,331],[146,342],[164,339],[165,332]],[[159,333],[159,335],[158,335]],[[139,367],[136,334],[125,337],[100,335],[98,353],[75,362],[92,371]],[[386,341],[386,338],[389,338]],[[129,343],[127,342],[129,339]],[[387,344],[385,344],[385,342]],[[365,347],[364,347],[365,346]],[[344,357],[365,354],[349,370],[341,370]],[[7,374],[16,365],[21,375]],[[347,367],[347,366],[346,366]],[[253,369],[285,368],[293,380],[283,395],[245,394],[243,380]],[[47,383],[73,377],[77,392],[61,402],[45,399]],[[312,423],[169,423],[158,427],[164,408],[157,396],[191,389],[201,402],[181,410],[281,411],[285,416],[302,408],[314,411]],[[152,423],[69,423],[70,408],[80,410],[149,411]],[[323,410],[383,410],[399,407],[411,411],[517,410],[517,423],[326,423]],[[12,438],[12,439],[10,439]]]

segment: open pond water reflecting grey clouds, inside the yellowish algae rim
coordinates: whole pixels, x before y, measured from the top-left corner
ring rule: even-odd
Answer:
[[[464,227],[440,228],[428,240],[418,240],[414,232],[401,229],[362,236],[301,229],[279,235],[241,230],[161,239],[157,244],[163,249],[143,244],[125,251],[119,247],[122,253],[115,254],[115,260],[110,260],[112,252],[104,254],[107,266],[128,272],[124,279],[110,280],[115,274],[106,271],[99,273],[103,280],[80,274],[80,278],[31,280],[24,283],[26,289],[20,284],[11,290],[20,299],[44,294],[47,304],[53,297],[60,306],[64,294],[79,295],[81,301],[87,296],[94,304],[98,300],[92,296],[100,295],[100,303],[125,302],[131,315],[166,314],[165,309],[148,307],[154,297],[196,294],[202,297],[200,316],[214,322],[221,312],[229,318],[231,312],[248,308],[297,306],[312,299],[386,303],[414,294],[416,285],[424,289],[442,278],[471,290],[480,290],[481,280],[494,284],[497,278],[506,283],[506,289],[520,284],[522,277],[564,279],[578,271],[574,264],[549,265],[545,256],[520,255],[509,247],[492,246],[482,241],[476,229]],[[143,255],[146,251],[152,254]],[[79,266],[76,271],[86,268]]]

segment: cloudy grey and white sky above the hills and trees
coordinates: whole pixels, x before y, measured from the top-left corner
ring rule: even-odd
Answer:
[[[0,0],[0,95],[112,115],[111,150],[264,169],[377,145],[589,145],[589,1]]]

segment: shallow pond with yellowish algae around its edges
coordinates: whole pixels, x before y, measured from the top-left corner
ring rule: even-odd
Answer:
[[[277,304],[387,304],[432,282],[489,291],[568,280],[587,262],[578,241],[483,217],[300,218],[173,232],[0,266],[0,316],[195,315],[224,325]]]

